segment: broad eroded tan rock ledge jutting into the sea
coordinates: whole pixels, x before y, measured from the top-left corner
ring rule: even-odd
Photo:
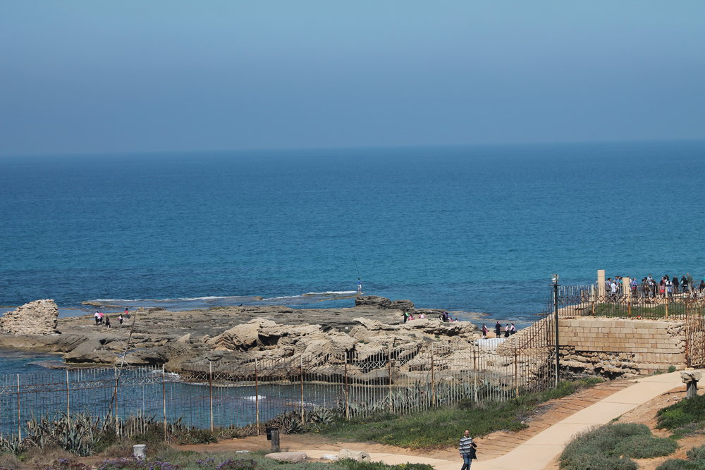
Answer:
[[[111,366],[124,356],[126,365],[165,364],[170,371],[188,371],[214,359],[232,367],[255,358],[299,356],[324,364],[330,354],[341,352],[364,360],[384,351],[421,350],[431,342],[462,350],[479,338],[473,323],[443,323],[438,319],[441,310],[415,309],[410,301],[360,296],[356,304],[341,309],[140,309],[122,326],[111,315],[113,328],[96,326],[92,315],[59,319],[57,324],[57,309],[52,328],[47,319],[56,304],[43,300],[6,314],[0,325],[8,328],[0,334],[0,347],[59,352],[68,366]],[[428,318],[403,323],[403,311],[415,316],[423,311]],[[43,319],[42,328],[19,328],[27,317]]]

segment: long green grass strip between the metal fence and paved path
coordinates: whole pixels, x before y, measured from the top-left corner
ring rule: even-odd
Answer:
[[[526,421],[542,403],[600,382],[599,378],[561,382],[556,389],[521,395],[506,402],[474,404],[465,400],[454,407],[415,414],[380,414],[352,421],[338,418],[330,423],[309,425],[305,431],[410,449],[448,447],[458,443],[458,436],[465,429],[475,437],[498,430],[519,431],[527,427]]]

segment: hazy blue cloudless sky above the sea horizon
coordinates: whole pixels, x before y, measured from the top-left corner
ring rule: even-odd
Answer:
[[[705,138],[705,2],[0,0],[0,155]]]

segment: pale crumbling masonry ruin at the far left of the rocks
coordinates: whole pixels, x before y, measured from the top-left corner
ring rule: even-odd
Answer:
[[[35,300],[8,311],[0,319],[0,333],[6,335],[52,335],[59,333],[59,307],[53,299]]]

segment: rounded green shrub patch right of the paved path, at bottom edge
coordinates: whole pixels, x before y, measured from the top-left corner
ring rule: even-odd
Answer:
[[[632,459],[662,457],[677,448],[675,440],[654,437],[644,424],[608,424],[572,440],[560,454],[560,468],[636,470]]]

